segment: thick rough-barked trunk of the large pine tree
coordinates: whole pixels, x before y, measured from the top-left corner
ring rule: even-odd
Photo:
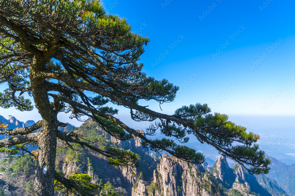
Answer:
[[[45,63],[44,58],[35,57],[30,71],[34,101],[43,120],[42,128],[37,136],[39,151],[34,178],[34,196],[53,196],[54,192],[58,120],[57,113],[53,110],[47,95],[46,81],[39,72],[45,68]]]

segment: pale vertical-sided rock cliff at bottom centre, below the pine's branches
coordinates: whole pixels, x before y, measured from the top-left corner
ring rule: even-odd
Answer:
[[[132,188],[132,196],[137,196],[139,192],[141,195],[149,192],[153,196],[209,196],[210,192],[223,195],[217,181],[210,174],[201,172],[205,172],[202,166],[163,154],[157,170],[153,172],[153,181],[148,191],[143,190],[143,186]]]

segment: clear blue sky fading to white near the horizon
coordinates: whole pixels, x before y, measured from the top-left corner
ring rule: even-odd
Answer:
[[[162,105],[164,113],[200,102],[237,123],[251,122],[242,116],[255,116],[252,120],[268,119],[261,122],[279,127],[279,115],[288,116],[282,118],[288,119],[284,126],[295,127],[294,1],[102,2],[108,13],[126,18],[134,32],[150,37],[140,60],[144,71],[181,88],[173,103]],[[160,111],[158,104],[148,105]],[[125,111],[119,113],[122,120],[128,120]],[[0,112],[6,118],[40,120],[36,110]],[[66,115],[60,119],[81,124]]]

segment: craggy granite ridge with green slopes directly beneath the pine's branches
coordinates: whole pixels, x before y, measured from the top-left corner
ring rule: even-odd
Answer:
[[[102,150],[115,147],[130,150],[138,155],[140,165],[137,168],[113,166],[109,165],[108,159],[99,153],[74,144],[73,148],[78,151],[64,148],[64,144],[58,140],[56,170],[65,177],[89,175],[91,183],[101,185],[102,191],[124,196],[286,195],[275,180],[265,175],[250,175],[238,164],[230,168],[224,157],[215,162],[206,159],[209,163],[214,163],[213,167],[207,162],[194,165],[168,156],[166,153],[149,152],[142,147],[142,140],[137,137],[126,141],[117,140],[91,119],[73,131],[86,135],[91,145]],[[32,195],[36,160],[29,155],[9,157],[10,196]],[[4,160],[0,163],[0,167],[4,167]],[[4,181],[0,180],[0,186],[3,185]],[[55,194],[64,195],[58,191]]]

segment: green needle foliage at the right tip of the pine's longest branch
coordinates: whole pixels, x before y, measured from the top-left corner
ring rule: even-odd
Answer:
[[[252,143],[257,142],[259,135],[253,132],[246,132],[246,128],[236,125],[228,120],[225,114],[214,113],[198,116],[194,119],[194,127],[199,130],[196,137],[201,142],[210,140],[222,148],[217,148],[219,152],[225,154],[238,163],[249,163],[252,167],[247,170],[252,174],[266,174],[269,172],[271,163],[266,158],[264,151],[259,150],[259,145]],[[222,131],[221,131],[222,130]],[[239,142],[242,145],[232,144]]]

